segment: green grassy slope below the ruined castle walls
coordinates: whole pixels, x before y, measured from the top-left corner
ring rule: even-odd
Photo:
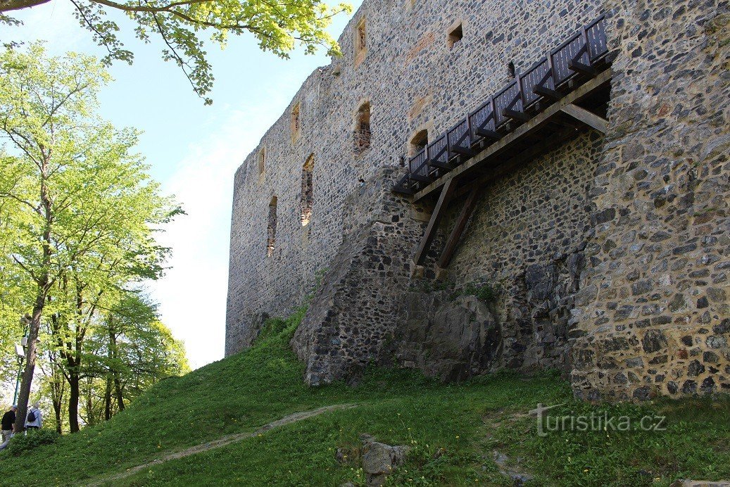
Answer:
[[[297,318],[246,353],[185,377],[164,380],[112,421],[38,447],[0,457],[2,485],[79,484],[120,472],[161,453],[223,434],[253,431],[287,413],[356,402],[351,410],[273,429],[217,450],[145,469],[124,485],[338,486],[363,478],[358,434],[413,447],[391,485],[511,485],[493,450],[520,459],[534,485],[666,485],[675,478],[730,478],[730,402],[691,400],[636,407],[574,402],[554,375],[512,375],[441,385],[411,372],[370,371],[357,388],[307,388],[288,349]],[[535,404],[569,411],[639,418],[667,414],[667,432],[561,432],[540,438]],[[338,464],[336,448],[350,451]],[[443,448],[445,453],[434,455]],[[32,468],[28,469],[28,466]],[[658,479],[658,480],[657,480]],[[119,483],[117,483],[119,484]]]

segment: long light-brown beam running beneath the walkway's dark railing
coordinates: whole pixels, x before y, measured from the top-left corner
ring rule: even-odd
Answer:
[[[609,68],[598,76],[594,77],[592,80],[589,80],[588,83],[585,83],[585,85],[579,86],[575,91],[572,91],[572,93],[568,93],[566,96],[556,101],[554,104],[550,105],[550,107],[546,108],[544,112],[539,113],[529,122],[519,126],[517,129],[515,129],[515,131],[510,132],[510,134],[507,134],[502,137],[502,139],[494,142],[492,145],[487,147],[487,149],[483,153],[480,153],[480,155],[472,158],[471,161],[461,164],[461,166],[458,166],[452,172],[449,172],[447,175],[440,177],[438,180],[435,180],[433,183],[426,186],[426,188],[423,188],[422,190],[418,191],[418,193],[415,193],[415,196],[413,196],[413,201],[418,202],[418,200],[429,196],[434,191],[437,191],[439,188],[442,187],[442,185],[445,185],[447,181],[452,180],[456,177],[461,177],[461,175],[464,175],[464,173],[466,172],[472,172],[473,170],[478,169],[479,166],[485,163],[485,161],[488,161],[497,153],[509,147],[516,140],[524,137],[526,134],[531,134],[532,132],[537,131],[540,127],[547,123],[550,118],[553,118],[556,114],[561,112],[562,107],[583,98],[589,93],[592,93],[597,88],[600,88],[602,85],[604,85],[608,80],[610,80],[611,77],[612,71]]]

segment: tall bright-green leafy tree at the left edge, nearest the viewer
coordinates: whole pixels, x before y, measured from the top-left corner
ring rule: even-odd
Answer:
[[[159,195],[132,153],[136,131],[93,115],[107,80],[99,61],[73,53],[47,58],[40,45],[0,56],[0,265],[12,266],[32,296],[18,430],[44,314],[55,320],[58,353],[77,369],[99,300],[129,275],[161,273],[167,249],[155,245],[154,231],[182,212]],[[70,409],[79,391],[69,386]]]

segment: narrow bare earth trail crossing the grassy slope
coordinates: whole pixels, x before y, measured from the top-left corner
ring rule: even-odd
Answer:
[[[284,426],[285,424],[291,424],[291,423],[296,423],[297,421],[303,421],[305,419],[318,416],[322,413],[328,413],[329,411],[350,409],[350,408],[353,408],[356,406],[357,406],[357,404],[334,404],[331,406],[318,407],[317,409],[313,409],[313,410],[309,410],[309,411],[300,411],[299,413],[292,413],[290,415],[284,416],[283,418],[277,419],[276,421],[272,421],[271,423],[261,426],[261,428],[258,428],[253,432],[228,434],[224,437],[220,437],[218,440],[204,442],[204,443],[201,443],[200,445],[194,445],[194,446],[191,446],[190,448],[185,448],[185,450],[178,450],[178,451],[175,451],[172,453],[168,453],[165,456],[160,457],[159,459],[155,459],[153,461],[147,462],[146,464],[137,465],[137,467],[131,467],[129,469],[126,469],[124,472],[120,472],[115,475],[109,475],[107,477],[98,478],[98,479],[94,480],[92,483],[88,483],[86,485],[101,486],[106,483],[115,482],[116,480],[121,480],[130,475],[134,475],[135,473],[139,472],[140,470],[144,470],[149,467],[155,467],[156,465],[164,464],[166,461],[183,459],[186,456],[196,455],[197,453],[202,453],[204,451],[213,450],[215,448],[221,448],[223,446],[230,445],[231,443],[245,440],[246,438],[254,437],[257,434],[267,432],[267,431],[269,431],[269,429],[276,428],[277,426]]]

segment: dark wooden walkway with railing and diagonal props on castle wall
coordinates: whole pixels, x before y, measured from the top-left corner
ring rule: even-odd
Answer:
[[[604,16],[585,26],[410,158],[393,191],[413,202],[438,195],[416,250],[422,265],[450,202],[468,195],[438,266],[445,269],[485,183],[575,137],[604,132],[612,71]]]

